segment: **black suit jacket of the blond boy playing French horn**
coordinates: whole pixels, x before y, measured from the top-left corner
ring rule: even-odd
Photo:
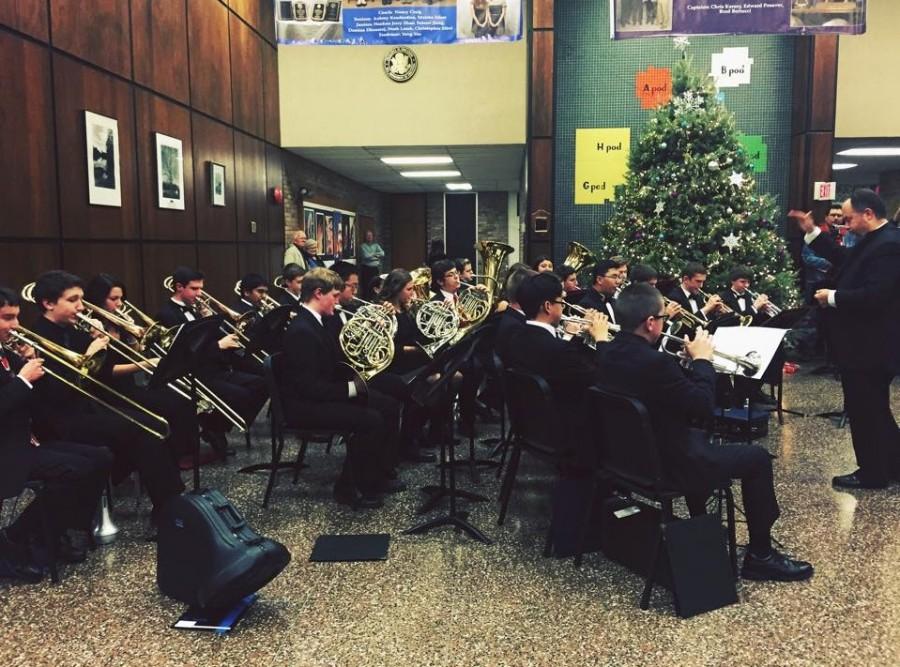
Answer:
[[[285,401],[345,401],[347,382],[338,377],[340,361],[333,336],[306,308],[301,308],[284,334],[281,389]]]

